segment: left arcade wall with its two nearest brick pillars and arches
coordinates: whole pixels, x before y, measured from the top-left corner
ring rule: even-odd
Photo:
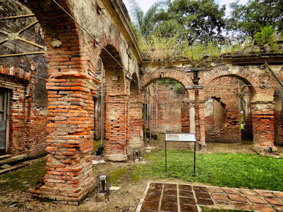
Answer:
[[[126,91],[125,73],[126,67],[130,75],[137,71],[139,51],[133,48],[137,43],[124,19],[128,18],[128,14],[123,13],[121,1],[114,2],[121,4],[117,10],[110,1],[98,1],[99,6],[105,8],[102,15],[90,9],[96,8],[94,1],[75,3],[61,0],[58,3],[80,23],[84,24],[85,19],[94,20],[86,28],[101,42],[95,47],[93,37],[78,28],[78,24],[55,3],[28,1],[28,6],[33,9],[43,28],[49,55],[49,79],[46,83],[49,95],[46,139],[48,172],[44,176],[43,186],[34,190],[33,194],[70,203],[80,202],[94,187],[90,151],[94,138],[98,60],[101,58],[103,62],[107,82],[105,136],[108,143],[105,158],[125,160],[129,132],[129,93]],[[114,20],[120,21],[120,29]],[[62,45],[53,47],[51,42],[54,39],[59,39]],[[129,45],[126,39],[131,40],[130,48],[135,53],[132,59],[127,53]],[[114,55],[114,59],[109,53]]]

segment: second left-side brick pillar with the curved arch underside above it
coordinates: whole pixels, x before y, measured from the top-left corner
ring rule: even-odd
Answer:
[[[114,55],[115,60],[111,55]],[[105,159],[126,161],[128,136],[128,94],[126,93],[126,73],[121,67],[121,57],[114,46],[101,50],[101,60],[105,69]]]

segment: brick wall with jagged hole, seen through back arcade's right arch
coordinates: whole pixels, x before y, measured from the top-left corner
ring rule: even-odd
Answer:
[[[205,90],[205,100],[213,99],[212,113],[205,117],[205,140],[240,142],[240,113],[238,80],[233,77],[216,78]]]

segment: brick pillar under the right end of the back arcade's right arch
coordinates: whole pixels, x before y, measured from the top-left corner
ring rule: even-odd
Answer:
[[[274,105],[275,102],[251,102],[253,146],[256,151],[266,151],[274,145]]]

